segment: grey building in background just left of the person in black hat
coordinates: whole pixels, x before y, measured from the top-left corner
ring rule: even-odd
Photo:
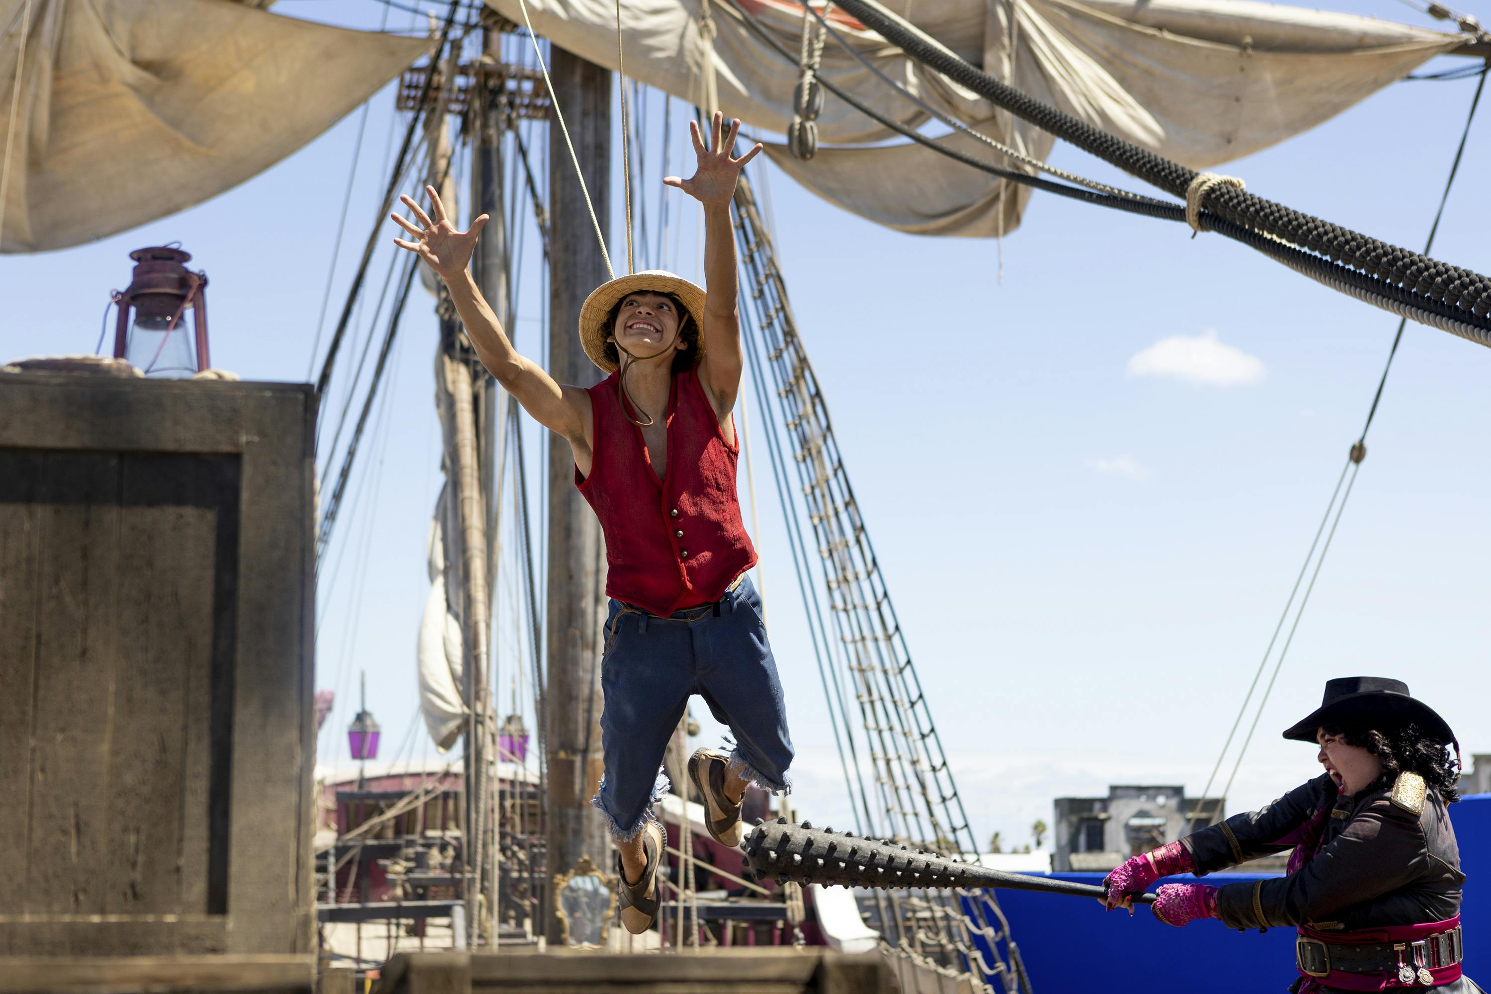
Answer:
[[[1057,797],[1051,869],[1108,872],[1224,817],[1226,799],[1178,785],[1112,785],[1106,797]]]

